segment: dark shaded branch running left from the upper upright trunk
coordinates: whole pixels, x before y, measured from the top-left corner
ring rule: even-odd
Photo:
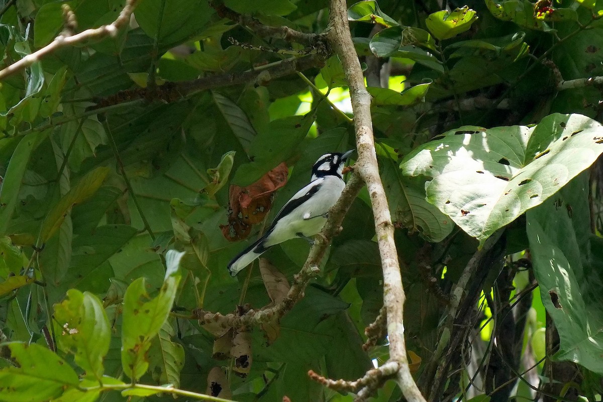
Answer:
[[[116,105],[134,99],[174,102],[177,99],[182,99],[204,90],[239,84],[253,83],[254,86],[262,86],[271,80],[276,80],[276,78],[295,74],[309,68],[320,68],[323,65],[324,58],[321,55],[314,54],[300,58],[294,57],[279,61],[264,69],[254,69],[237,74],[210,75],[193,81],[166,83],[154,88],[136,88],[120,91],[106,98],[94,99],[96,102],[95,108]]]

